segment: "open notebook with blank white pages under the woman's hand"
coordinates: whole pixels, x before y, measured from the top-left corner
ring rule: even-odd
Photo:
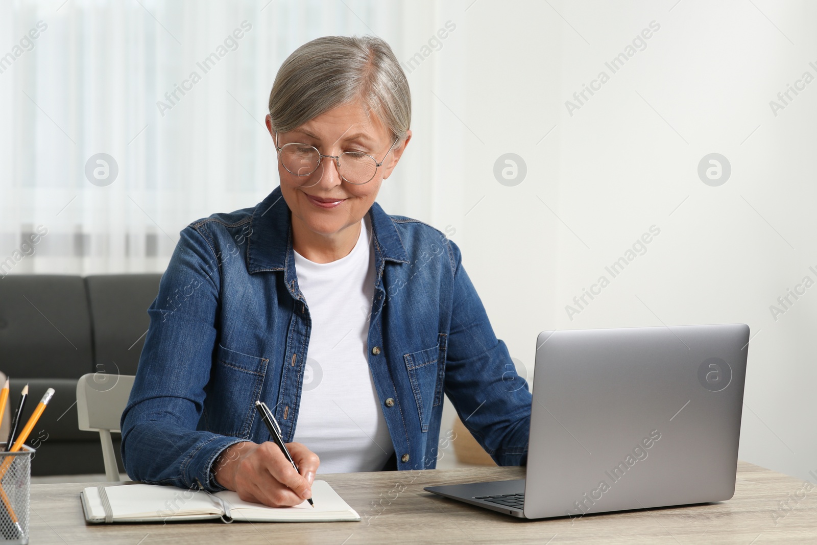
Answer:
[[[92,486],[79,494],[85,520],[91,523],[170,522],[221,519],[224,522],[336,522],[360,520],[325,480],[312,484],[312,501],[294,507],[267,507],[244,502],[239,494],[164,485]]]

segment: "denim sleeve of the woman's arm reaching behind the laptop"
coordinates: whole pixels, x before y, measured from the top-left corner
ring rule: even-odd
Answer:
[[[493,333],[474,285],[449,241],[453,275],[445,393],[465,427],[500,466],[525,465],[531,395],[507,346]]]

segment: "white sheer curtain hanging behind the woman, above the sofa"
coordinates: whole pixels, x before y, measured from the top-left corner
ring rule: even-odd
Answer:
[[[444,9],[431,0],[0,3],[0,275],[163,270],[190,221],[252,207],[278,185],[263,119],[289,53],[322,35],[377,34],[408,61],[444,26]],[[435,172],[457,159],[431,151],[452,138],[435,136],[443,58],[432,51],[412,65],[415,137],[378,199],[431,223],[446,215],[431,204]],[[460,63],[450,64],[456,76]],[[446,80],[441,94],[456,101],[458,78]],[[113,161],[92,160],[91,171],[109,168],[95,184],[86,166],[96,154]]]

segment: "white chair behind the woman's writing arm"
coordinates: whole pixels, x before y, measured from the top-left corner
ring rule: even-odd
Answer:
[[[119,429],[119,418],[122,417],[127,398],[131,395],[135,378],[132,375],[87,373],[77,382],[79,429],[100,432],[105,477],[108,480],[119,480],[114,442],[110,438],[110,432],[122,433]]]

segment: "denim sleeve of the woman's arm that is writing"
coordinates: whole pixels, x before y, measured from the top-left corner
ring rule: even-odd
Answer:
[[[210,380],[219,289],[216,253],[186,227],[148,309],[150,328],[122,414],[122,458],[132,479],[224,489],[210,467],[241,439],[196,429]]]

